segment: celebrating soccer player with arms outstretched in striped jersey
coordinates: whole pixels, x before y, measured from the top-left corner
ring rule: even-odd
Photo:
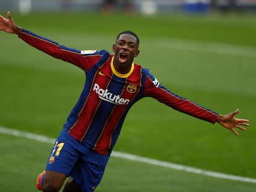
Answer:
[[[64,128],[49,155],[46,169],[36,183],[39,190],[59,191],[67,177],[64,191],[94,191],[103,177],[122,123],[132,105],[145,97],[158,99],[188,115],[218,122],[238,135],[234,128],[245,131],[249,120],[237,119],[239,112],[221,115],[165,88],[140,65],[139,38],[132,31],[117,35],[114,54],[108,51],[80,51],[67,48],[17,26],[7,12],[0,15],[0,30],[15,33],[20,39],[50,56],[77,65],[85,72],[85,86],[79,101],[69,114]]]

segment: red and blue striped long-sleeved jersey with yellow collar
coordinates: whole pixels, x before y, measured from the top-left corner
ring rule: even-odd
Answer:
[[[113,65],[114,55],[106,50],[67,48],[25,29],[19,38],[85,72],[84,88],[67,117],[64,130],[100,154],[112,151],[130,107],[145,97],[155,98],[198,119],[216,122],[216,112],[172,93],[148,69],[133,63],[129,73],[118,73]]]

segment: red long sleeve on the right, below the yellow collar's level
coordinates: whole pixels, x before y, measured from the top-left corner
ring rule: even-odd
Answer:
[[[191,115],[198,119],[215,123],[218,113],[210,111],[189,99],[182,98],[162,86],[160,82],[150,73],[145,80],[144,95],[155,98],[173,109]]]

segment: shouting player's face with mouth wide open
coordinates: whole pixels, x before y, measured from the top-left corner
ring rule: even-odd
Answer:
[[[115,52],[115,62],[118,65],[130,66],[134,61],[134,57],[139,55],[137,39],[130,34],[122,34],[113,44],[113,51]]]

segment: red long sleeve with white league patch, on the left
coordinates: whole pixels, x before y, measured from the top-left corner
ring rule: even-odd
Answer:
[[[79,49],[67,48],[25,29],[22,29],[19,38],[34,48],[62,61],[70,62],[85,71],[88,71],[101,58],[99,51],[80,51]]]

